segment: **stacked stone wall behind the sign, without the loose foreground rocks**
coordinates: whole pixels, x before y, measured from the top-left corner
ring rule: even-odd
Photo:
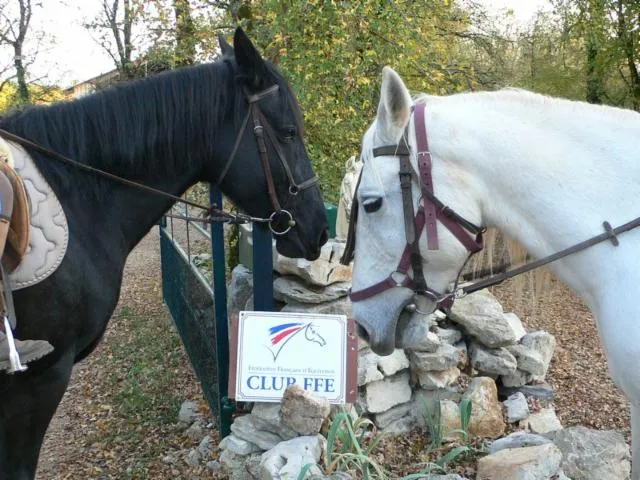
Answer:
[[[284,305],[282,311],[351,316],[351,267],[339,263],[343,250],[343,242],[330,240],[314,262],[276,258],[274,268],[280,276],[274,280],[274,296]],[[251,309],[252,279],[246,267],[234,269],[230,290],[231,314]],[[490,293],[456,301],[448,317],[415,313],[405,320],[404,350],[379,357],[365,342],[360,345],[357,412],[372,416],[382,431],[397,433],[423,425],[425,409],[436,407],[455,429],[459,402],[473,396],[471,433],[495,438],[505,429],[496,385],[509,388],[508,394],[517,389],[530,394],[527,388],[550,393],[544,384],[531,384],[544,381],[554,337],[547,332],[527,334],[518,317],[504,313]],[[471,381],[467,388],[469,377],[481,380]]]

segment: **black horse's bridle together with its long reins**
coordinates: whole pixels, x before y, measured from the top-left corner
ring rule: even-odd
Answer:
[[[54,150],[51,150],[49,148],[43,147],[42,145],[39,145],[35,142],[32,142],[31,140],[28,140],[26,138],[23,138],[19,135],[16,135],[14,133],[8,132],[6,130],[2,130],[0,129],[0,136],[6,138],[7,140],[11,140],[14,141],[16,143],[19,143],[20,145],[22,145],[23,147],[27,147],[27,148],[31,148],[33,150],[36,150],[40,153],[43,153],[55,160],[58,160],[62,163],[66,163],[67,165],[71,165],[75,168],[78,168],[80,170],[83,170],[85,172],[89,172],[104,178],[107,178],[109,180],[112,180],[114,182],[117,183],[121,183],[123,185],[127,185],[130,187],[134,187],[137,188],[138,190],[142,190],[148,193],[152,193],[154,195],[159,195],[165,198],[168,198],[170,200],[173,200],[174,202],[177,203],[182,203],[185,205],[189,205],[191,207],[194,208],[198,208],[200,210],[203,210],[204,212],[206,212],[206,216],[204,218],[194,218],[194,217],[188,217],[188,216],[180,216],[180,215],[168,215],[168,216],[172,216],[172,217],[176,217],[176,218],[182,218],[182,219],[192,219],[192,220],[197,220],[200,222],[205,222],[205,223],[214,223],[214,222],[223,222],[223,223],[234,223],[234,224],[238,224],[238,223],[249,223],[249,222],[256,222],[256,223],[267,223],[269,225],[269,229],[271,230],[271,232],[274,235],[284,235],[287,232],[289,232],[289,230],[291,230],[291,228],[293,228],[296,224],[295,219],[293,218],[293,215],[291,214],[291,212],[289,212],[288,210],[283,209],[280,206],[280,202],[278,201],[278,196],[276,193],[276,188],[275,188],[275,182],[273,180],[273,176],[271,174],[271,167],[269,164],[269,157],[268,157],[268,153],[267,153],[267,147],[265,144],[265,140],[264,140],[264,132],[267,132],[267,136],[269,137],[269,140],[271,142],[271,144],[273,145],[274,150],[276,151],[278,158],[280,159],[280,162],[282,163],[285,172],[287,174],[287,178],[289,179],[289,195],[291,196],[295,196],[297,195],[301,190],[304,190],[306,188],[309,188],[313,185],[315,185],[318,182],[318,176],[314,175],[312,178],[309,178],[308,180],[303,181],[300,184],[297,184],[293,178],[292,172],[291,172],[291,168],[289,167],[289,164],[287,163],[287,160],[284,156],[284,153],[282,152],[282,149],[280,148],[280,145],[278,144],[277,141],[277,137],[273,131],[273,128],[271,127],[271,125],[269,124],[269,122],[267,121],[267,119],[265,118],[264,114],[262,113],[262,111],[260,110],[260,106],[258,105],[259,101],[262,100],[263,98],[273,95],[278,91],[278,85],[273,85],[261,92],[258,92],[256,94],[249,94],[248,91],[245,90],[245,97],[247,99],[247,102],[249,103],[249,110],[247,112],[247,115],[244,118],[244,121],[242,123],[242,126],[240,128],[240,131],[238,132],[238,136],[236,137],[236,141],[234,143],[234,147],[233,147],[233,151],[231,152],[231,155],[229,156],[229,159],[227,160],[225,167],[222,171],[222,174],[220,175],[220,177],[218,178],[217,182],[215,183],[215,185],[219,185],[220,182],[222,181],[222,179],[224,178],[224,176],[226,175],[227,171],[229,170],[229,167],[231,166],[231,163],[233,162],[233,159],[235,158],[236,152],[240,146],[240,143],[242,141],[242,137],[244,136],[244,131],[246,130],[249,118],[253,118],[253,123],[254,123],[254,135],[256,137],[256,142],[258,145],[258,152],[260,154],[260,160],[262,162],[262,168],[264,169],[264,173],[265,173],[265,178],[267,181],[267,189],[269,192],[269,198],[271,200],[271,204],[273,206],[273,213],[271,213],[271,215],[269,217],[266,218],[261,218],[261,217],[253,217],[251,215],[246,215],[243,213],[229,213],[229,212],[225,212],[224,210],[222,210],[221,206],[206,206],[206,205],[202,205],[196,202],[192,202],[190,200],[186,200],[183,199],[181,197],[178,197],[176,195],[172,195],[170,193],[164,192],[162,190],[158,190],[154,187],[150,187],[149,185],[144,185],[142,183],[138,183],[138,182],[134,182],[132,180],[128,180],[126,178],[122,178],[118,175],[114,175],[113,173],[109,173],[106,172],[104,170],[101,170],[99,168],[95,168],[95,167],[91,167],[89,165],[86,165],[84,163],[78,162],[76,160],[73,160],[65,155],[62,155]],[[274,228],[274,224],[279,224],[282,223],[284,219],[286,228],[284,228],[283,230],[277,230],[276,228]]]

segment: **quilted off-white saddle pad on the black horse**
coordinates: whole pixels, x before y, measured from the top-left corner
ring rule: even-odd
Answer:
[[[9,275],[12,290],[30,287],[51,275],[67,251],[69,227],[62,205],[31,157],[18,144],[0,139],[0,151],[8,145],[10,162],[20,174],[31,202],[29,246],[18,267]]]

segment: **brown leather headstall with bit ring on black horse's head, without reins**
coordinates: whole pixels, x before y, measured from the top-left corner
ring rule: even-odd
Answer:
[[[278,143],[277,135],[275,134],[273,127],[269,124],[267,119],[265,118],[262,110],[260,110],[259,102],[265,97],[274,95],[278,92],[278,85],[272,85],[271,87],[258,92],[256,94],[251,95],[247,90],[245,90],[245,98],[249,103],[249,110],[242,121],[242,126],[240,127],[240,131],[238,132],[238,136],[236,137],[235,144],[233,145],[233,150],[231,151],[231,155],[229,155],[229,159],[222,169],[222,173],[218,177],[216,181],[216,185],[220,185],[220,182],[224,179],[225,175],[229,171],[231,164],[240,148],[240,143],[242,142],[242,137],[244,136],[244,131],[249,124],[249,119],[253,120],[253,134],[256,137],[256,142],[258,145],[258,153],[260,153],[260,161],[262,162],[262,168],[264,170],[264,175],[267,180],[267,190],[269,192],[269,199],[271,200],[271,205],[273,206],[273,213],[269,216],[269,229],[274,235],[284,235],[292,227],[295,226],[296,221],[293,218],[293,215],[288,210],[285,210],[280,205],[280,201],[278,200],[278,194],[276,192],[275,182],[273,180],[273,175],[271,173],[271,166],[269,165],[269,155],[267,152],[267,145],[264,140],[264,134],[266,132],[271,145],[273,146],[278,158],[280,159],[280,163],[284,167],[284,171],[287,175],[287,179],[289,180],[289,195],[296,196],[300,191],[305,190],[309,187],[312,187],[316,183],[318,183],[318,176],[314,175],[313,177],[305,180],[302,183],[296,183],[293,178],[293,173],[291,172],[291,168],[287,163],[287,159]],[[284,219],[286,222],[286,228],[284,230],[276,230],[273,225],[279,219]]]

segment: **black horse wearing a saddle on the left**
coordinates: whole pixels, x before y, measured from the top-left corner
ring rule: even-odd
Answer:
[[[0,128],[174,195],[221,180],[248,214],[277,210],[275,223],[284,225],[275,228],[293,223],[290,212],[295,225],[276,237],[278,251],[314,260],[327,219],[296,98],[241,29],[234,48],[221,46],[225,56],[214,63],[34,107],[1,119]],[[55,273],[14,294],[16,337],[46,339],[55,351],[26,372],[0,374],[0,479],[7,480],[34,478],[72,367],[96,347],[114,311],[127,255],[172,204],[28,150],[64,208],[69,243]]]

